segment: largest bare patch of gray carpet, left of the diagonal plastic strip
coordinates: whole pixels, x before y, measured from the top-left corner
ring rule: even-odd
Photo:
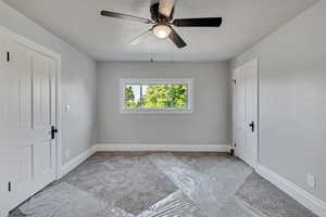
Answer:
[[[95,155],[63,181],[134,215],[177,190],[146,154]]]

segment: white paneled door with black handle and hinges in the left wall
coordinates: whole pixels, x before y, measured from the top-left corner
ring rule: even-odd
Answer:
[[[0,38],[1,39],[1,38]],[[14,40],[1,46],[1,156],[8,207],[55,179],[55,61]]]

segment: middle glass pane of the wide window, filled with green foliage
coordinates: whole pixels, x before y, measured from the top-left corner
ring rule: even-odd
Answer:
[[[143,86],[143,108],[168,108],[173,107],[173,92],[171,85]]]

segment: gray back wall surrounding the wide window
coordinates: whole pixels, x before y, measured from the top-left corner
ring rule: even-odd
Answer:
[[[229,144],[229,64],[99,62],[98,143]],[[120,78],[193,78],[193,114],[121,114]]]

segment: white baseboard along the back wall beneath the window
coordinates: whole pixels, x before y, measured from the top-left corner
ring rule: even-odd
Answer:
[[[97,144],[98,152],[229,152],[229,144]]]

